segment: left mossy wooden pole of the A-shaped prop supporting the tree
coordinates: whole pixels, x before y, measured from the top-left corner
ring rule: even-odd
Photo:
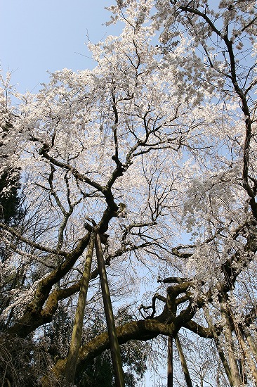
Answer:
[[[95,234],[92,234],[88,245],[88,251],[86,254],[84,272],[81,278],[79,298],[78,298],[77,309],[76,309],[75,319],[74,319],[74,326],[72,331],[72,340],[70,342],[70,350],[69,350],[67,363],[65,367],[65,380],[68,386],[70,384],[74,384],[74,378],[75,378],[75,373],[77,368],[77,360],[79,355],[79,348],[81,345],[84,312],[86,307],[86,295],[88,291],[88,284],[89,284],[90,273],[91,273],[91,263],[92,263],[94,245],[95,245]]]

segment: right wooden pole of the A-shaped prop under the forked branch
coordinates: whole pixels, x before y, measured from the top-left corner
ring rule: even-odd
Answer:
[[[98,270],[100,275],[100,283],[103,293],[103,305],[105,307],[105,317],[107,322],[107,331],[110,340],[110,350],[112,355],[112,364],[114,368],[114,379],[116,387],[124,387],[124,374],[121,364],[121,353],[119,350],[119,343],[117,338],[116,327],[112,312],[112,301],[110,297],[110,290],[107,281],[107,274],[105,270],[105,261],[103,259],[103,250],[100,241],[100,235],[96,234],[95,250],[98,258]]]

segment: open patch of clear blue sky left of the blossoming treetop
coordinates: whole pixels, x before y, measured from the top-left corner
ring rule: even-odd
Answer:
[[[114,0],[0,0],[0,63],[24,93],[47,82],[47,70],[93,68],[87,35],[98,42],[119,27],[103,25]]]

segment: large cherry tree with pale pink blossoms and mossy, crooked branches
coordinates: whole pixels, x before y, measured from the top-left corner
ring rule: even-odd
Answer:
[[[76,302],[95,230],[114,306],[136,302],[141,316],[117,326],[120,344],[186,329],[213,342],[230,386],[253,386],[256,2],[124,0],[110,11],[124,29],[89,44],[93,70],[51,74],[37,95],[15,94],[18,108],[3,85],[1,173],[18,168],[29,210],[27,227],[0,224],[12,251],[1,337],[26,338],[61,300]],[[92,303],[97,281],[94,254]],[[82,345],[77,372],[108,347],[107,333]],[[66,364],[41,383],[60,382]]]

